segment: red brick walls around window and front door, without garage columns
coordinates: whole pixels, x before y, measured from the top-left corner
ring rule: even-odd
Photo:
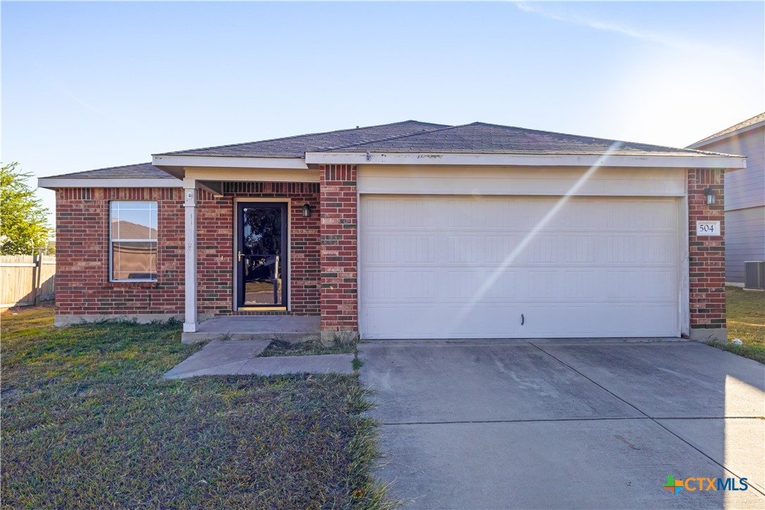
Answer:
[[[319,314],[319,185],[228,183],[224,196],[200,191],[197,205],[197,310],[207,315],[286,312],[233,311],[234,198],[290,199],[289,313]],[[158,203],[156,282],[109,281],[109,202]],[[302,207],[311,205],[311,217]],[[56,196],[56,307],[59,316],[184,314],[184,208],[180,188],[65,188]],[[77,322],[77,320],[74,320]]]

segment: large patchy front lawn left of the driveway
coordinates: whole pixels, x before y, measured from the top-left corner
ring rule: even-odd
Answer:
[[[165,381],[177,324],[3,313],[2,507],[379,508],[356,377]]]

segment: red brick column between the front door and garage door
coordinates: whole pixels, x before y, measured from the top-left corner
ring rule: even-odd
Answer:
[[[356,167],[320,167],[321,209],[321,338],[356,337],[357,229]]]

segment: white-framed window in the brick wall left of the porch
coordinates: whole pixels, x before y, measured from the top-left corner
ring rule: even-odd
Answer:
[[[157,280],[157,203],[112,202],[109,210],[112,281]]]

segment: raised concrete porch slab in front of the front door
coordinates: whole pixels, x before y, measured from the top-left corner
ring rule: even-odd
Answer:
[[[181,342],[207,340],[284,340],[304,342],[321,335],[321,318],[317,316],[263,315],[227,316],[205,320],[195,333],[183,333]]]

